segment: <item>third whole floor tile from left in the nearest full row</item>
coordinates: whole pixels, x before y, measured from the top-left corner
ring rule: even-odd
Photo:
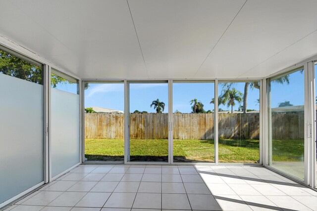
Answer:
[[[75,207],[96,207],[102,208],[106,203],[107,199],[111,193],[87,193],[76,205]]]

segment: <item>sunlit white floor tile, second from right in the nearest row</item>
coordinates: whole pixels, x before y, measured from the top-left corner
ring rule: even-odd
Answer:
[[[266,196],[271,202],[277,205],[282,210],[298,210],[298,211],[312,211],[302,203],[293,199],[290,196]]]

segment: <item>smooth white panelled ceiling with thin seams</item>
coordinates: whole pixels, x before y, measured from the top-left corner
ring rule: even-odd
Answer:
[[[0,35],[82,79],[262,78],[317,54],[317,0],[0,0],[0,8]]]

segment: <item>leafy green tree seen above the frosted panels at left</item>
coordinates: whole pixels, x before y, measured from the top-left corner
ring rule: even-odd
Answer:
[[[0,50],[0,73],[23,79],[36,84],[43,84],[42,67],[20,59],[10,53]],[[55,74],[52,74],[51,85],[71,83]]]

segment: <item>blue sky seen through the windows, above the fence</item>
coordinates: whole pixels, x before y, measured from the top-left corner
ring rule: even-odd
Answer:
[[[278,107],[284,101],[290,101],[293,105],[304,104],[304,74],[298,72],[289,76],[289,84],[271,84],[271,104]],[[234,87],[243,93],[245,83],[235,83]],[[76,84],[59,84],[57,88],[76,93]],[[218,94],[221,93],[222,84],[218,84]],[[130,84],[130,112],[135,110],[155,112],[150,107],[153,100],[159,99],[165,103],[164,113],[168,111],[168,85],[165,84]],[[190,113],[190,100],[197,98],[204,104],[204,109],[213,110],[210,104],[214,97],[213,83],[174,83],[173,84],[173,112],[178,110],[182,113]],[[257,99],[260,97],[259,89],[249,88],[248,109],[259,110]],[[241,103],[242,104],[242,103]],[[124,110],[124,84],[90,83],[85,90],[85,107],[104,107],[115,110]],[[231,108],[220,105],[223,110]],[[234,110],[238,110],[239,103],[236,102]]]

